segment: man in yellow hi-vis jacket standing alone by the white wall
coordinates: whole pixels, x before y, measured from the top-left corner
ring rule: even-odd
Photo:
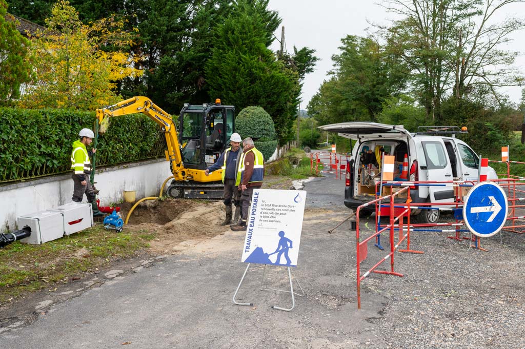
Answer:
[[[78,136],[79,140],[73,142],[73,150],[71,151],[71,169],[73,172],[73,197],[71,198],[74,202],[80,203],[86,194],[88,203],[93,208],[93,216],[102,216],[100,213],[97,202],[95,200],[95,191],[89,181],[89,175],[91,174],[91,161],[89,160],[90,155],[92,156],[97,152],[96,149],[92,149],[88,152],[86,145],[90,145],[95,138],[95,134],[90,129],[80,130]]]

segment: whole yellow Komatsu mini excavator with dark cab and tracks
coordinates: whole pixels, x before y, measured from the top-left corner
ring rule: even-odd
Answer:
[[[184,103],[175,120],[147,97],[133,97],[109,107],[97,109],[99,133],[104,133],[109,119],[121,115],[143,113],[161,126],[166,138],[166,160],[174,179],[167,189],[172,197],[219,199],[223,196],[221,170],[206,176],[234,133],[235,107],[214,104]]]

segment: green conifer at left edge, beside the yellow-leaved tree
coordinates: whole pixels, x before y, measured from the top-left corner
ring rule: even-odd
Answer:
[[[27,60],[29,40],[16,29],[4,0],[0,0],[0,37],[0,101],[5,101],[18,97],[20,85],[31,78],[31,65]]]

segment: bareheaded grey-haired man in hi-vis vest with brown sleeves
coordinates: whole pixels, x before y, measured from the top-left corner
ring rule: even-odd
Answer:
[[[246,138],[243,141],[244,153],[241,157],[239,170],[237,174],[237,185],[239,186],[240,203],[243,209],[241,210],[241,218],[239,224],[230,227],[234,231],[246,230],[246,219],[248,218],[248,211],[251,204],[251,194],[254,189],[260,188],[262,185],[262,178],[264,177],[264,156],[255,149],[254,141],[251,138]]]

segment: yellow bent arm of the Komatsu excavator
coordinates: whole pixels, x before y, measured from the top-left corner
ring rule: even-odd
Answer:
[[[166,138],[166,160],[171,162],[175,180],[185,181],[188,179],[187,172],[183,171],[185,169],[182,162],[182,146],[178,142],[175,123],[170,114],[159,108],[149,98],[132,97],[109,107],[97,109],[99,132],[104,133],[106,131],[110,118],[136,113],[145,114],[161,126]]]

